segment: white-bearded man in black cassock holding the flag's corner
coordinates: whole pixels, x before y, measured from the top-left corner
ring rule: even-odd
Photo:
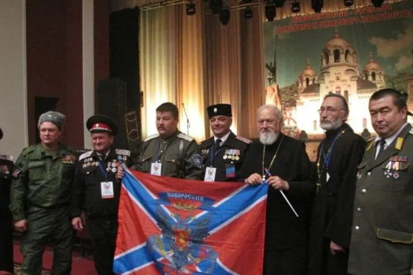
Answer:
[[[276,106],[264,105],[257,110],[260,139],[250,144],[239,175],[250,185],[269,185],[262,274],[301,275],[306,274],[315,175],[305,144],[282,134],[282,126],[283,117]]]

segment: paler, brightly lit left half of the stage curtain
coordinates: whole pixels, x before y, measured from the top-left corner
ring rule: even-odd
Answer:
[[[180,130],[187,133],[188,117],[190,136],[197,141],[204,139],[204,126],[200,123],[204,121],[200,14],[186,16],[184,5],[141,11],[139,57],[144,137],[156,134],[156,107],[169,101],[180,109]]]

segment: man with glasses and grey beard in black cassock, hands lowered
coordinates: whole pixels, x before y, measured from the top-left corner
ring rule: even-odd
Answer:
[[[316,162],[309,274],[346,275],[357,165],[366,141],[346,123],[349,105],[342,95],[326,95],[318,113],[325,139],[318,146]]]

